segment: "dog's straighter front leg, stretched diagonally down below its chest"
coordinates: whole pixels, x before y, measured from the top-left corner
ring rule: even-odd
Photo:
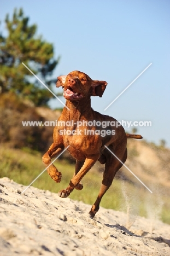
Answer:
[[[91,167],[95,164],[99,155],[92,156],[91,158],[86,158],[84,165],[80,168],[80,171],[71,179],[68,187],[58,192],[60,197],[67,197],[71,192],[78,186],[81,179],[85,176],[85,174],[91,169]]]

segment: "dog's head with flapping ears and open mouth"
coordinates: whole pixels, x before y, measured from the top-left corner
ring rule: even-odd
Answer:
[[[86,96],[102,97],[107,82],[92,80],[89,75],[73,71],[57,78],[56,87],[64,88],[63,96],[67,100],[79,100]]]

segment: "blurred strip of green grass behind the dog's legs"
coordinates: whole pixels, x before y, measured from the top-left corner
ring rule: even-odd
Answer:
[[[23,185],[29,185],[45,168],[42,163],[42,154],[27,150],[26,148],[20,150],[1,147],[0,161],[0,177],[9,177],[13,181]],[[55,165],[58,171],[62,173],[62,181],[55,183],[45,171],[33,183],[33,187],[50,190],[54,193],[66,188],[73,176],[75,166],[69,164],[66,160],[60,159],[56,160]],[[69,197],[92,205],[97,198],[102,178],[103,174],[98,172],[96,168],[92,168],[83,178],[83,190],[74,190]],[[163,222],[170,224],[168,197],[164,195],[163,200],[165,203],[161,207],[160,216]],[[130,203],[132,208],[131,213],[136,213],[137,211],[140,216],[147,217],[149,215],[148,202],[149,204],[153,202],[151,208],[159,208],[156,194],[154,195],[153,193],[150,195],[143,187],[138,188],[133,184],[114,179],[112,186],[102,199],[101,206],[126,212],[127,203]]]

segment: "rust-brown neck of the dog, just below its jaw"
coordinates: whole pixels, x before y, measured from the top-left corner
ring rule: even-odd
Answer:
[[[67,100],[66,106],[70,109],[63,108],[63,114],[67,120],[80,120],[82,117],[89,119],[92,112],[90,96],[81,98],[79,101]]]

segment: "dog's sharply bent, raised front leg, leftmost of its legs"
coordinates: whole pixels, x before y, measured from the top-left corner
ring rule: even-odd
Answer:
[[[43,155],[42,159],[43,159],[44,165],[48,167],[51,164],[51,158],[54,158],[55,156],[59,155],[64,148],[65,147],[63,146],[63,144],[58,144],[56,142],[52,143],[48,152],[46,152]],[[61,181],[61,172],[58,172],[57,168],[53,164],[51,164],[48,167],[47,171],[50,177],[54,179],[55,182],[58,183]]]

